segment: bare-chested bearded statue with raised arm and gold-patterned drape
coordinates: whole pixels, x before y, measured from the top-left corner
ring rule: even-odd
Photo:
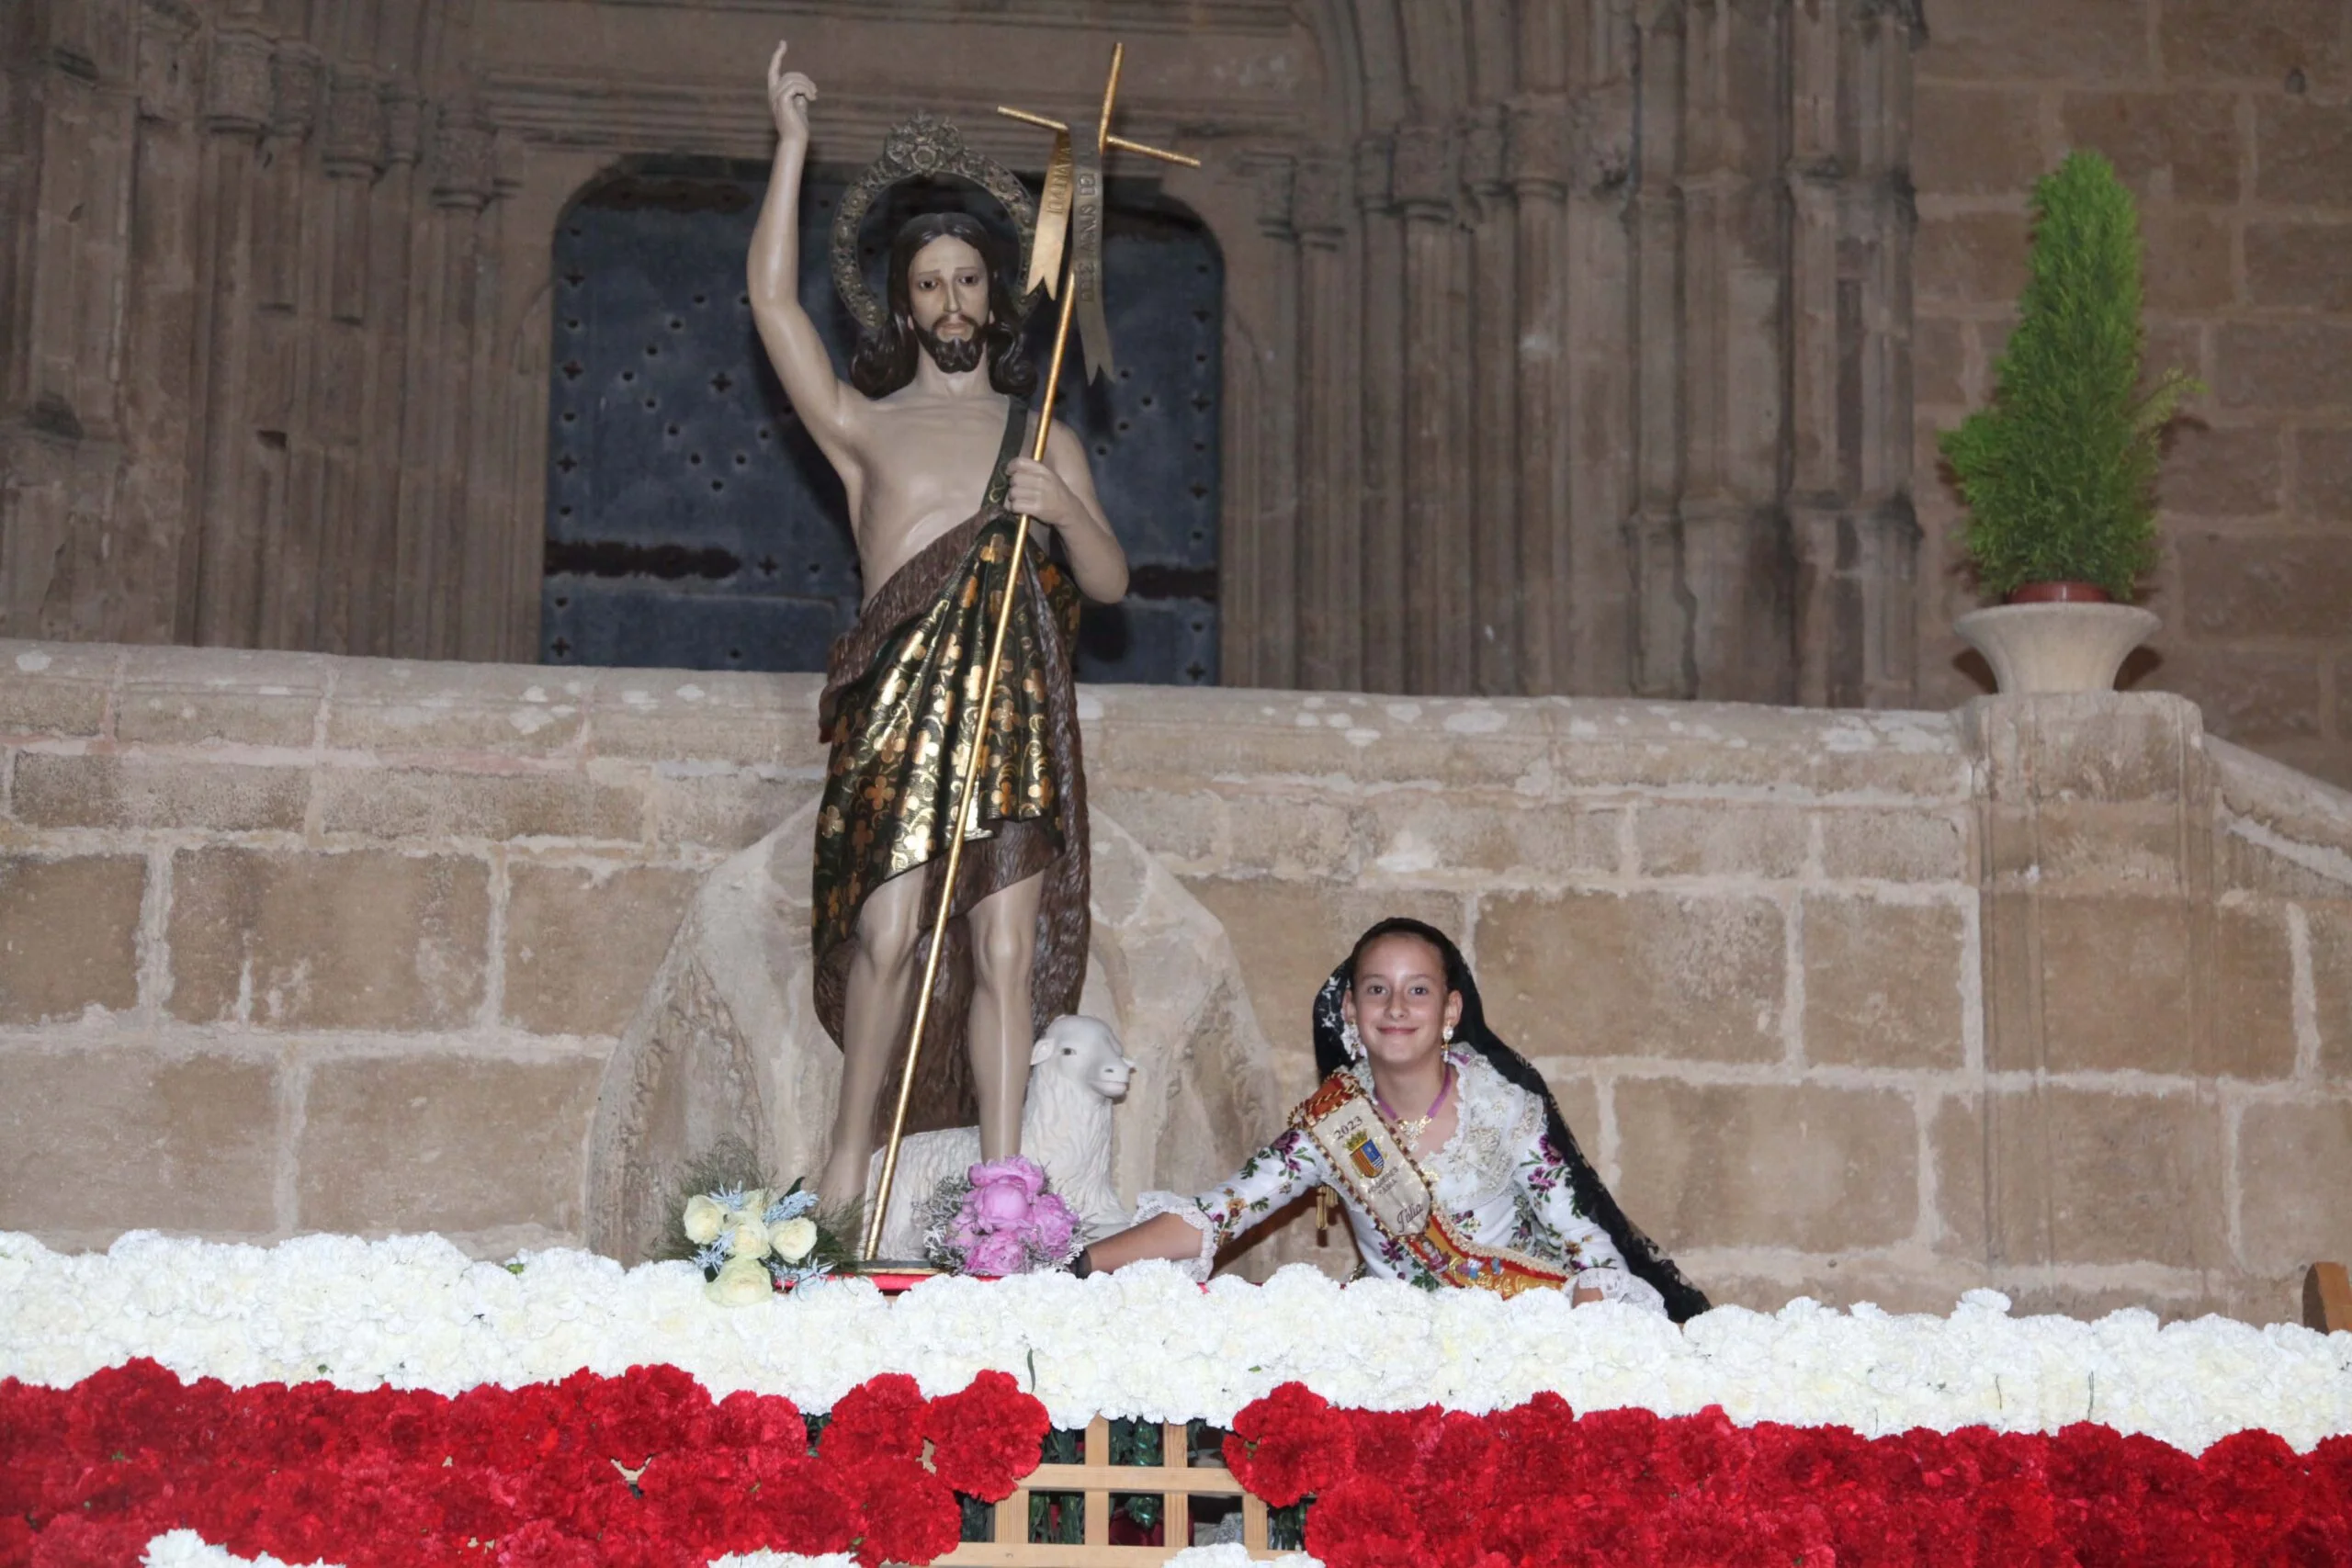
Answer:
[[[1021,456],[1033,440],[1023,395],[1037,371],[1018,341],[1016,263],[976,219],[934,212],[898,230],[884,320],[861,334],[849,381],[835,376],[795,294],[816,87],[783,68],[783,52],[776,45],[767,68],[776,167],[750,242],[750,306],[793,411],[842,477],[866,585],[818,703],[833,750],[814,877],[816,1006],[842,1046],[816,1190],[826,1204],[851,1204],[866,1192],[882,1088],[913,1020],[974,738],[983,773],[974,813],[957,825],[967,839],[957,914],[908,1128],[967,1121],[969,1084],[981,1157],[1021,1152],[1030,1044],[1077,1011],[1087,969],[1077,592],[1120,599],[1127,555],[1065,425],[1054,423],[1042,463]],[[1016,564],[1023,512],[1051,534],[1033,531]],[[1061,543],[1058,562],[1044,538]],[[1002,592],[1016,595],[1007,668],[983,719]]]

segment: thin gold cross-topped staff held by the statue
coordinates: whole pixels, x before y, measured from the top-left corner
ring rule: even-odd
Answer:
[[[1127,59],[1127,45],[1110,45],[1110,78],[1103,82],[1103,115],[1094,125],[1094,158],[1101,160],[1105,148],[1122,148],[1129,153],[1143,153],[1148,158],[1162,158],[1167,162],[1181,162],[1197,169],[1200,167],[1197,158],[1185,158],[1183,153],[1164,153],[1160,148],[1148,148],[1138,141],[1127,141],[1124,136],[1110,134],[1110,108],[1120,96],[1120,63],[1124,59]],[[1014,108],[1000,108],[997,113],[1058,132],[1056,162],[1068,167],[1068,139],[1070,139],[1068,125],[1061,125],[1058,120],[1047,120],[1044,115],[1028,115]],[[1063,237],[1068,235],[1073,219],[1068,200],[1070,186],[1063,183],[1061,190],[1063,190],[1061,212],[1044,212],[1044,207],[1051,205],[1054,195],[1054,176],[1049,174],[1047,202],[1040,202],[1040,214],[1037,214],[1037,252],[1035,252],[1037,256],[1047,254],[1047,235],[1051,233],[1054,266],[1049,268],[1049,273],[1061,273],[1061,256],[1065,249],[1070,252],[1070,266],[1073,268],[1077,266],[1077,252],[1063,244]],[[1030,270],[1035,270],[1035,263]],[[1070,282],[1075,280],[1065,280],[1061,289],[1061,320],[1054,324],[1054,357],[1049,360],[1044,376],[1044,407],[1037,418],[1037,440],[1030,444],[1033,463],[1044,463],[1044,440],[1054,430],[1054,397],[1061,393],[1061,360],[1070,346],[1070,313],[1077,306],[1077,294],[1080,294],[1080,289],[1070,287]],[[931,1016],[931,985],[938,978],[938,952],[948,938],[948,917],[955,912],[955,872],[964,860],[964,827],[967,823],[971,823],[974,790],[981,780],[978,762],[981,762],[981,745],[985,745],[988,715],[995,710],[997,703],[997,672],[1004,668],[1004,637],[1011,630],[1014,621],[1014,595],[1021,590],[1021,567],[1023,567],[1023,555],[1028,550],[1028,527],[1030,527],[1030,515],[1021,512],[1018,522],[1014,524],[1014,555],[1011,555],[1011,569],[1004,578],[1004,599],[1002,604],[997,604],[997,630],[988,644],[988,670],[981,677],[981,708],[978,708],[981,722],[971,726],[969,750],[960,759],[962,788],[957,790],[957,802],[955,802],[955,818],[953,818],[955,830],[948,835],[948,875],[938,884],[938,910],[931,917],[931,950],[929,957],[924,957],[922,961],[922,987],[915,992],[915,1027],[908,1030],[906,1037],[906,1074],[898,1079],[898,1107],[891,1112],[889,1145],[884,1145],[882,1152],[882,1180],[875,1182],[875,1206],[873,1213],[866,1215],[866,1246],[863,1246],[866,1258],[873,1258],[882,1248],[882,1215],[889,1213],[889,1187],[891,1178],[898,1173],[898,1145],[906,1138],[906,1105],[915,1091],[915,1056],[922,1051],[922,1025],[929,1023]],[[1075,853],[1082,853],[1082,849]]]

